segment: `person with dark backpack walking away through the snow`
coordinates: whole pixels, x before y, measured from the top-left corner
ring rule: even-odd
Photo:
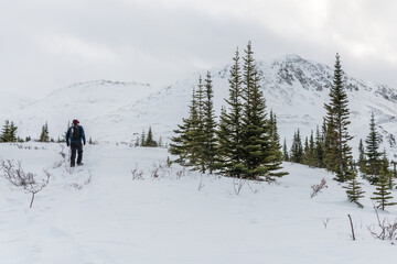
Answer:
[[[82,143],[83,140],[83,143]],[[77,152],[77,166],[83,165],[83,144],[85,145],[84,129],[79,125],[78,120],[73,120],[73,125],[66,132],[66,145],[71,146],[71,167],[74,167]]]

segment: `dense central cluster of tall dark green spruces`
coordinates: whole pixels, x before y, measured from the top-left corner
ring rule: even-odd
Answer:
[[[267,112],[250,42],[244,52],[243,62],[238,48],[233,58],[229,97],[218,121],[211,73],[204,80],[200,76],[189,117],[174,130],[170,153],[178,156],[174,162],[201,173],[272,180],[287,174],[281,172],[276,114]]]

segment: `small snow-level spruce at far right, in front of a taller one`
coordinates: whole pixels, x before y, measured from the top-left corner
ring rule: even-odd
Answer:
[[[389,180],[391,177],[391,172],[388,169],[388,163],[384,162],[380,167],[378,182],[375,183],[376,191],[374,191],[374,197],[371,198],[377,202],[377,208],[380,208],[382,210],[385,210],[388,206],[397,205],[397,202],[390,201],[393,199],[391,193],[389,191]]]

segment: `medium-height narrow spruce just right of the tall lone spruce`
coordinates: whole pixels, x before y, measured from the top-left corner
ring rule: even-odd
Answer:
[[[375,184],[378,180],[378,175],[382,167],[382,153],[379,150],[380,135],[376,131],[374,112],[371,114],[369,134],[365,140],[366,144],[366,165],[365,165],[365,177],[371,184]]]

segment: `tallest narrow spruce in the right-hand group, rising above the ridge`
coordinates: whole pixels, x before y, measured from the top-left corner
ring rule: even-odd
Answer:
[[[348,120],[348,100],[342,78],[340,56],[336,54],[333,85],[330,90],[331,100],[329,105],[325,103],[324,106],[326,110],[324,163],[329,170],[336,174],[335,179],[343,183],[348,179],[348,175],[352,173],[353,157],[352,148],[348,145],[348,141],[352,140],[347,131],[347,125],[351,123]]]

